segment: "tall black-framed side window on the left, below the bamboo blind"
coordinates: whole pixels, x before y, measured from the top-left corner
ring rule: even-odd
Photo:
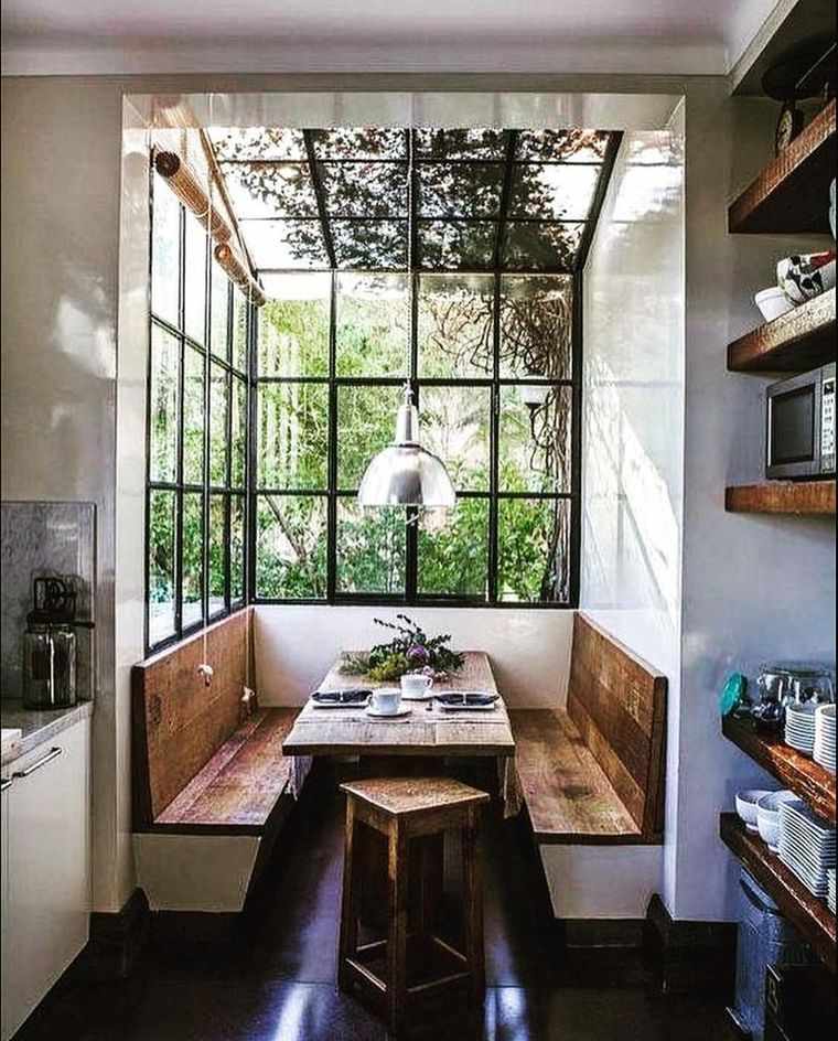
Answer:
[[[151,189],[146,646],[246,599],[251,308],[197,219]]]

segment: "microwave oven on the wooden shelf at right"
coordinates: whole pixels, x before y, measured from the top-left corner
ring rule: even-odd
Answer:
[[[835,362],[766,390],[765,476],[801,481],[835,475]]]

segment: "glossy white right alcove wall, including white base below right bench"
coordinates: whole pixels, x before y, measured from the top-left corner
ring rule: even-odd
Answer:
[[[628,131],[584,270],[580,605],[669,678],[674,807],[684,460],[684,104]],[[666,841],[677,822],[669,814]],[[544,847],[557,915],[643,917],[660,847]]]

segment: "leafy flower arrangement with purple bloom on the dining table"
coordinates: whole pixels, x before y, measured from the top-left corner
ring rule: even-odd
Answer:
[[[405,673],[426,673],[440,678],[445,673],[462,668],[465,662],[464,655],[448,646],[450,634],[429,637],[406,614],[397,614],[395,623],[382,619],[374,621],[396,635],[389,643],[376,644],[367,653],[345,655],[341,672],[368,675],[370,679],[385,683],[398,679]]]

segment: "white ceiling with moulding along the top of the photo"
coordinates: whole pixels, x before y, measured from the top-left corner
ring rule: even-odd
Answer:
[[[3,72],[720,74],[777,2],[3,0]]]

